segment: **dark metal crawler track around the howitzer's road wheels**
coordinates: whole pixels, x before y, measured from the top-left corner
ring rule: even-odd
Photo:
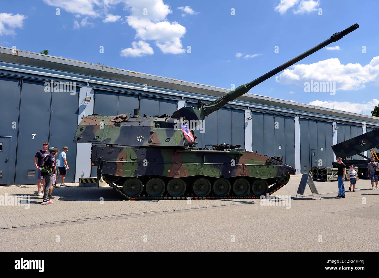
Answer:
[[[166,196],[161,196],[161,197],[150,197],[150,196],[145,196],[145,194],[142,194],[142,196],[138,196],[138,197],[134,197],[133,198],[133,197],[127,196],[119,188],[119,186],[117,186],[115,183],[110,182],[110,181],[108,181],[106,179],[104,179],[104,181],[109,186],[111,186],[115,191],[117,191],[117,193],[119,193],[122,197],[124,197],[127,200],[260,199],[260,196],[253,195],[253,194],[250,193],[250,191],[249,191],[249,194],[247,194],[247,196],[243,196],[243,197],[240,197],[240,196],[225,196],[225,197],[220,197],[220,196],[205,196],[205,197],[198,197],[198,196],[194,196],[194,194],[187,194],[187,196],[181,196],[181,197],[171,197],[171,196],[168,196],[168,194],[165,194]],[[282,188],[283,186],[285,186],[287,183],[288,183],[288,181],[285,182],[282,185],[277,184],[277,183],[275,183],[274,185],[271,185],[271,187],[268,188],[269,195],[273,194],[274,192],[276,192],[277,190],[279,190],[280,188]]]

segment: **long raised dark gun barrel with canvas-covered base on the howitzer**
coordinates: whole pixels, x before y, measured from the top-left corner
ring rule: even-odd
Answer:
[[[208,104],[201,105],[201,102],[199,102],[199,106],[196,107],[183,107],[182,109],[179,109],[175,111],[172,114],[172,118],[186,118],[186,120],[203,120],[205,116],[209,115],[212,112],[215,112],[216,110],[220,109],[222,106],[227,104],[229,101],[232,101],[240,96],[242,96],[244,93],[247,93],[252,87],[260,84],[261,82],[265,81],[266,79],[276,75],[280,71],[284,70],[285,68],[290,67],[291,65],[299,62],[300,60],[304,59],[305,57],[309,56],[312,53],[315,53],[316,51],[320,50],[323,47],[326,47],[332,42],[337,42],[337,40],[341,39],[343,36],[346,36],[347,34],[351,33],[352,31],[359,28],[358,24],[354,24],[350,26],[349,28],[333,34],[329,39],[325,40],[324,42],[316,45],[315,47],[311,48],[310,50],[305,51],[304,53],[300,54],[297,57],[294,57],[288,62],[285,62],[283,65],[280,65],[279,67],[269,71],[268,73],[265,73],[264,75],[258,77],[257,79],[246,83],[244,85],[241,85],[240,87],[237,87],[236,89],[230,91],[225,96],[221,96],[219,99],[216,99]]]

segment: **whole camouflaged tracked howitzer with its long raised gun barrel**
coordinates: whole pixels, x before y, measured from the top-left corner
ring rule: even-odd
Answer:
[[[74,142],[92,143],[97,176],[127,199],[259,198],[286,185],[292,166],[280,157],[246,151],[240,145],[196,148],[194,128],[212,112],[252,87],[359,26],[335,33],[316,47],[208,104],[182,107],[171,116],[141,116],[139,109],[117,116],[84,117]]]

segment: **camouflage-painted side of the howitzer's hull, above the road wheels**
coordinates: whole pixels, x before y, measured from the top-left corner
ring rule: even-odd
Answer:
[[[232,166],[232,161],[235,164]],[[274,158],[249,151],[92,146],[93,166],[120,177],[254,177],[269,179],[295,174]],[[270,184],[270,183],[269,183]],[[272,184],[272,183],[271,183]]]

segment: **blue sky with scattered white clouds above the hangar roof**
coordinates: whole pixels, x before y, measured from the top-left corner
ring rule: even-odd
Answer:
[[[379,103],[378,8],[374,0],[2,1],[0,45],[230,88],[359,23],[329,45],[339,49],[320,50],[250,93],[371,115]],[[335,82],[335,94],[305,92],[311,79]]]

